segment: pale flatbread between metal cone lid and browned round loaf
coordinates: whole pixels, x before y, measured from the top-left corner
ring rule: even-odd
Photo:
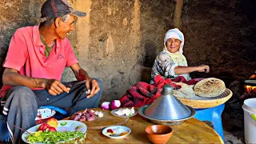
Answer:
[[[194,85],[187,85],[186,83],[183,83],[183,82],[175,82],[175,84],[182,86],[182,88],[178,90],[173,90],[175,97],[190,99],[195,96],[194,90],[193,90]]]

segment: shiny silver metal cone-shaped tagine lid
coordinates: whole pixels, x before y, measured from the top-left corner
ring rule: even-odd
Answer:
[[[144,114],[149,118],[159,120],[178,120],[187,118],[191,110],[173,95],[173,87],[165,85],[162,95],[146,107]]]

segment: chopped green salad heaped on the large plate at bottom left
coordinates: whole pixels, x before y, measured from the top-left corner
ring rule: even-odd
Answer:
[[[74,139],[81,139],[85,138],[85,134],[81,131],[65,131],[65,132],[57,132],[57,131],[50,131],[50,132],[40,132],[37,131],[33,134],[29,134],[27,136],[27,141],[30,143],[57,143],[57,142],[70,142],[74,141]]]

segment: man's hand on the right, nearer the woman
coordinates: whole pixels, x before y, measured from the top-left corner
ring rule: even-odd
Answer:
[[[87,88],[86,94],[89,94],[87,95],[87,98],[93,97],[95,94],[98,93],[99,90],[101,90],[101,88],[98,86],[98,82],[92,78],[87,79],[86,88]]]

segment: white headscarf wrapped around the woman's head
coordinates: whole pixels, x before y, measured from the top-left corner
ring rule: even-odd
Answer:
[[[169,38],[177,38],[177,39],[179,39],[180,41],[182,41],[181,46],[179,47],[178,52],[179,52],[180,54],[183,54],[183,46],[184,46],[184,41],[185,41],[185,39],[184,39],[184,35],[182,34],[182,32],[181,32],[180,30],[178,30],[177,28],[168,30],[168,31],[166,32],[165,39],[164,39],[165,50],[167,50],[167,48],[166,48],[166,42],[167,42],[167,40],[168,40]],[[168,50],[167,50],[167,51],[168,51]]]

